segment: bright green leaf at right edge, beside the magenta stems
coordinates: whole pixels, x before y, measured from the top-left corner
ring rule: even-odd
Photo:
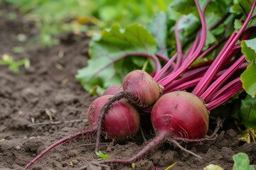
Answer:
[[[242,53],[245,59],[250,62],[245,72],[241,74],[242,87],[252,98],[256,95],[256,38],[241,42]]]

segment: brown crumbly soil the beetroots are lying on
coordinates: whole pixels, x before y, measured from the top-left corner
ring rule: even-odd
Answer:
[[[28,23],[21,14],[10,19],[8,13],[15,9],[0,5],[0,56],[8,54],[15,60],[28,57],[29,69],[21,68],[20,74],[0,67],[0,169],[23,169],[44,148],[62,137],[87,127],[86,121],[60,123],[57,125],[36,125],[32,123],[65,120],[85,120],[87,108],[96,96],[90,96],[75,74],[87,63],[90,38],[85,35],[63,35],[58,46],[42,49],[31,44],[26,52],[14,53],[13,47],[25,42],[17,40],[23,33],[28,38],[38,31],[33,23]],[[224,122],[225,124],[225,122]],[[227,126],[228,127],[228,126]],[[209,130],[213,132],[214,128]],[[208,164],[218,164],[224,169],[232,169],[233,155],[245,152],[250,164],[256,165],[256,145],[238,140],[238,131],[222,128],[213,141],[202,143],[181,142],[183,147],[203,157],[198,159],[178,147],[163,144],[135,163],[135,169],[203,169]],[[146,135],[149,139],[149,135]],[[94,153],[92,136],[78,137],[66,142],[46,154],[31,169],[109,169],[90,164],[98,157]],[[87,144],[87,145],[85,145]],[[143,147],[141,134],[122,144],[106,141],[101,151],[110,158],[127,159]],[[111,169],[132,169],[130,165],[110,165]]]

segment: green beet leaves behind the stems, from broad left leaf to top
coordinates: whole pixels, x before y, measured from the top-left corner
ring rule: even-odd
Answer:
[[[189,12],[183,10],[184,6],[188,6],[186,3],[191,4]],[[206,8],[208,34],[205,49],[223,38],[226,28],[233,22],[233,17],[230,17],[225,22],[220,23],[218,27],[210,30],[210,26],[213,26],[228,13],[231,3],[232,1],[223,3],[214,0]],[[200,1],[200,5],[203,8],[206,1]],[[218,8],[215,8],[215,6],[218,6]],[[146,62],[144,57],[138,57],[138,55],[136,55],[137,57],[135,55],[134,57],[127,57],[125,60],[122,57],[138,52],[153,56],[161,54],[164,57],[171,57],[176,52],[174,27],[177,21],[181,45],[189,45],[193,42],[198,29],[201,27],[198,11],[193,1],[173,1],[166,8],[166,12],[160,11],[157,13],[146,25],[146,29],[143,29],[139,34],[137,33],[137,36],[131,35],[132,32],[127,31],[129,27],[121,29],[114,25],[110,29],[104,29],[101,35],[97,34],[92,39],[89,50],[91,58],[88,60],[87,67],[78,71],[77,79],[87,91],[90,91],[90,94],[102,94],[102,91],[108,86],[120,84],[123,77],[132,69],[142,69]],[[230,30],[233,30],[233,28]],[[136,39],[143,43],[136,44],[136,41],[138,41]],[[186,47],[184,47],[185,50]],[[217,53],[218,51],[210,52],[208,57],[212,59]],[[154,71],[152,65],[154,64],[150,62],[146,71]]]

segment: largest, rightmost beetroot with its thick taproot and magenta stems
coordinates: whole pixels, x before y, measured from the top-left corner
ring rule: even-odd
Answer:
[[[199,30],[196,35],[195,42],[193,42],[193,45],[183,54],[181,40],[178,40],[178,24],[176,23],[174,29],[176,30],[177,52],[167,61],[163,69],[159,72],[156,71],[156,75],[154,76],[154,80],[157,81],[158,84],[161,84],[161,86],[164,86],[164,93],[178,90],[161,96],[152,108],[151,122],[156,131],[156,137],[139,150],[137,154],[133,154],[132,157],[127,160],[109,159],[97,163],[132,164],[141,157],[144,157],[144,155],[151,150],[156,149],[165,141],[171,142],[181,148],[176,140],[201,142],[203,140],[213,139],[215,133],[203,139],[208,130],[208,111],[220,106],[220,104],[228,101],[232,96],[238,94],[238,91],[242,90],[239,69],[242,69],[246,63],[245,56],[240,54],[240,42],[250,37],[249,35],[254,33],[252,28],[255,28],[255,25],[248,26],[248,23],[252,21],[252,18],[255,18],[253,12],[256,1],[253,1],[253,3],[248,2],[248,6],[251,6],[250,12],[245,11],[242,4],[239,4],[242,11],[246,13],[245,18],[240,18],[242,22],[241,28],[233,31],[229,38],[226,37],[226,33],[228,33],[230,29],[226,29],[223,40],[226,39],[227,41],[220,52],[218,52],[215,60],[211,62],[207,71],[200,73],[199,70],[196,69],[191,70],[191,74],[188,74],[186,70],[191,69],[189,67],[191,67],[191,64],[196,59],[201,59],[206,56],[206,54],[212,52],[213,49],[216,49],[216,47],[222,43],[220,42],[218,45],[213,46],[213,48],[210,47],[205,52],[202,52],[209,28],[206,26],[204,13],[210,1],[206,1],[206,6],[204,6],[202,10],[199,1],[195,0],[202,25],[201,30]],[[223,23],[223,21],[219,23]],[[218,26],[218,24],[215,26]],[[213,28],[215,28],[215,26],[213,26]],[[176,63],[174,63],[174,61],[176,61]],[[225,69],[225,72],[222,72],[222,69]],[[191,94],[181,91],[184,89],[191,90]],[[218,130],[215,130],[215,132],[217,131]],[[189,153],[191,154],[192,152]],[[196,154],[193,155],[201,158]]]

